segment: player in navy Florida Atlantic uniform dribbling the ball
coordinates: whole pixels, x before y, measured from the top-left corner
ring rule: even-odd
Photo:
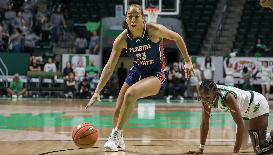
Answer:
[[[125,29],[114,41],[112,53],[105,65],[93,97],[86,106],[98,100],[100,91],[111,77],[121,50],[133,58],[133,67],[121,87],[114,110],[112,133],[104,145],[105,151],[120,151],[125,148],[122,129],[129,120],[139,98],[158,95],[167,83],[168,72],[164,62],[162,38],[174,40],[185,59],[185,77],[188,80],[194,74],[192,62],[182,37],[163,25],[145,23],[140,5],[132,4],[127,8],[126,19],[122,23]],[[194,74],[195,75],[195,74]]]

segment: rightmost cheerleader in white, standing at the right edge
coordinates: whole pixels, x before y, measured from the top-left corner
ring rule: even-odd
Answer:
[[[258,63],[259,63],[259,60],[258,60]],[[263,96],[265,96],[265,98],[268,101],[272,71],[271,71],[271,68],[268,68],[268,61],[264,61],[262,67],[259,64],[257,66],[262,69],[262,77],[261,77],[262,94]]]

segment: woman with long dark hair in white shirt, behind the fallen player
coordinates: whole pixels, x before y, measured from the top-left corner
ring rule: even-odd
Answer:
[[[210,56],[206,56],[205,62],[202,63],[200,70],[203,80],[213,80],[215,66],[214,63],[211,62]]]

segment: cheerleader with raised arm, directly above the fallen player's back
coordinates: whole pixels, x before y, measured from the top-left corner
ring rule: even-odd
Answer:
[[[234,87],[234,78],[233,78],[234,65],[232,65],[231,63],[227,65],[227,57],[225,57],[223,64],[225,69],[225,86]]]

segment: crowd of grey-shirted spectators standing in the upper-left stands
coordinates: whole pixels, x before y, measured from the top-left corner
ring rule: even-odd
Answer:
[[[51,14],[37,1],[26,0],[15,10],[11,0],[0,0],[0,15],[0,51],[33,53],[39,42],[59,45],[61,27],[66,28],[61,8]]]

